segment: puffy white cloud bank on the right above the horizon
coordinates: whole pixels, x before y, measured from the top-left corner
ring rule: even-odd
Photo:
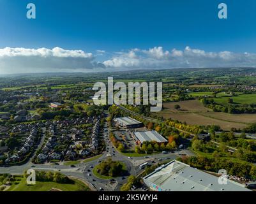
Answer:
[[[215,67],[255,67],[256,54],[223,52],[206,52],[205,50],[185,47],[184,50],[164,50],[163,47],[148,50],[133,49],[116,54],[103,62],[107,68],[215,68]]]

